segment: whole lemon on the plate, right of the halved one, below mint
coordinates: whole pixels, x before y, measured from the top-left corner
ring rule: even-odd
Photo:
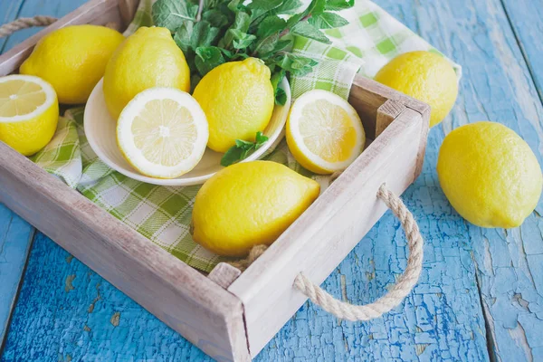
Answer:
[[[226,62],[205,74],[194,97],[209,122],[207,147],[226,152],[236,139],[254,141],[273,111],[270,69],[260,59]]]

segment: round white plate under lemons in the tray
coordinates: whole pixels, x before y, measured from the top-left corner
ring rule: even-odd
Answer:
[[[147,182],[148,184],[163,185],[163,186],[190,186],[204,184],[205,180],[213,176],[217,171],[220,171],[221,158],[224,154],[214,152],[206,148],[204,157],[196,165],[196,167],[183,176],[171,179],[161,179],[143,176],[138,173],[134,167],[122,157],[119,147],[117,146],[116,126],[117,122],[112,119],[110,112],[106,107],[104,100],[104,92],[102,89],[103,79],[94,87],[90,93],[87,106],[84,114],[85,135],[89,140],[90,148],[96,155],[109,167],[119,171],[125,176],[129,176],[138,181]],[[289,108],[291,105],[291,87],[286,79],[281,81],[280,87],[287,93],[287,101],[285,106],[275,105],[273,114],[271,115],[268,127],[264,129],[264,135],[268,136],[268,141],[254,152],[250,157],[247,157],[243,162],[253,161],[261,157],[267,149],[276,147],[284,137],[284,126],[287,122]]]

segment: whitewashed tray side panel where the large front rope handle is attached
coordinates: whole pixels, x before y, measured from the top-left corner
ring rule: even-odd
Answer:
[[[243,301],[252,357],[255,357],[307,298],[292,283],[303,271],[321,283],[386,212],[378,187],[397,195],[413,183],[424,120],[405,109],[277,242],[233,282]],[[425,142],[424,142],[425,143]]]

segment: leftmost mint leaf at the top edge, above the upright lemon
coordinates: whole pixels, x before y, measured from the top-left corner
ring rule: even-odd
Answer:
[[[198,5],[179,0],[157,0],[152,6],[153,23],[166,27],[170,32],[185,22],[195,22]]]

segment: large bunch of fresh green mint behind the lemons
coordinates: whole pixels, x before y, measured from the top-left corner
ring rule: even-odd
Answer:
[[[330,43],[321,30],[348,24],[334,12],[353,6],[354,0],[312,0],[297,13],[301,5],[300,0],[252,0],[248,5],[243,0],[157,0],[152,16],[157,26],[172,32],[185,53],[193,87],[216,66],[247,57],[261,58],[273,76],[281,73],[281,81],[289,74],[307,74],[317,65],[291,52],[292,35]],[[283,105],[286,97],[277,83],[275,101]]]

